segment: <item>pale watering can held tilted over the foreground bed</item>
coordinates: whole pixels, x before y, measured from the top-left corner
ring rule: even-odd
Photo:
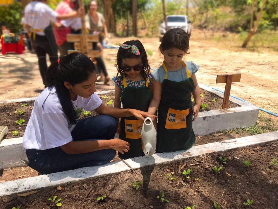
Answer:
[[[147,156],[152,156],[156,149],[156,130],[150,117],[144,120],[141,136],[143,152]]]

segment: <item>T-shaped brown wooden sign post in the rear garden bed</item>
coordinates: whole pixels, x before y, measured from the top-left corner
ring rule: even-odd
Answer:
[[[216,83],[226,83],[222,109],[228,108],[232,82],[240,82],[241,73],[217,75]]]

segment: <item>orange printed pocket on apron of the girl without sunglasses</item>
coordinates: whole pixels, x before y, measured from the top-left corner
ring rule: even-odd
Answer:
[[[166,118],[166,129],[183,129],[186,128],[186,116],[189,114],[189,109],[175,110],[169,108]]]

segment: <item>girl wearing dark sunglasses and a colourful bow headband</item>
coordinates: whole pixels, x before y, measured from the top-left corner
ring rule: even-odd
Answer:
[[[115,82],[114,107],[132,108],[141,111],[148,110],[152,90],[152,76],[147,53],[143,44],[136,41],[126,41],[120,44],[116,60],[117,75]],[[143,156],[141,145],[141,129],[143,122],[135,117],[117,119],[119,138],[130,143],[128,153],[121,154],[121,159]]]

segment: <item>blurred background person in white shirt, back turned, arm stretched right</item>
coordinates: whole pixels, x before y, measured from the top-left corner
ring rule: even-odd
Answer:
[[[54,38],[51,21],[55,23],[57,20],[78,17],[83,13],[84,9],[81,8],[78,12],[73,11],[69,14],[59,15],[47,5],[47,0],[32,1],[25,7],[24,24],[28,34],[30,34],[30,27],[33,28],[29,38],[38,57],[44,85],[47,71],[46,54],[49,55],[51,63],[58,60],[58,46]]]

